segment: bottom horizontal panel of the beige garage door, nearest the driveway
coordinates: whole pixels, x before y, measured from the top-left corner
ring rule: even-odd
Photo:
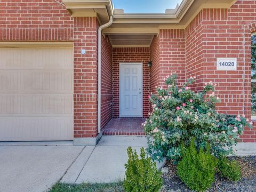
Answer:
[[[0,117],[2,141],[73,140],[73,118]]]

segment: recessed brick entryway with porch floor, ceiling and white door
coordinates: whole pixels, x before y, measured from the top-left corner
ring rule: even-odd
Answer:
[[[152,68],[148,65],[151,60],[149,45],[154,37],[134,34],[102,37],[102,47],[109,48],[103,49],[101,60],[103,135],[145,135],[141,124],[149,116],[148,95],[155,89],[151,86]],[[154,69],[156,65],[154,62]]]

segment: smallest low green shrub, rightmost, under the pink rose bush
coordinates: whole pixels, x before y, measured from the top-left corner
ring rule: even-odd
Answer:
[[[227,157],[219,159],[220,176],[230,181],[239,181],[241,179],[241,167],[235,160],[230,161]]]

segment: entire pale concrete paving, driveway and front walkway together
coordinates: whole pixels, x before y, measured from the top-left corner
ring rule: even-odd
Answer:
[[[73,142],[0,142],[0,191],[43,192],[56,182],[123,180],[126,149],[138,152],[146,137],[102,137],[97,146]]]

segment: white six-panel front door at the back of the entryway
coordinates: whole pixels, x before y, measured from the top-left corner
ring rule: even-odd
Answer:
[[[120,116],[142,116],[142,63],[120,63]]]

